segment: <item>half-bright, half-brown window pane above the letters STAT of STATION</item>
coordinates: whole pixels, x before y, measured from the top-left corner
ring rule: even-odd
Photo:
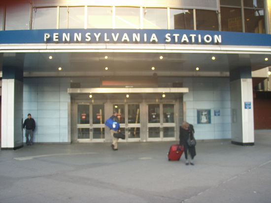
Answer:
[[[170,29],[194,29],[193,9],[170,9]]]

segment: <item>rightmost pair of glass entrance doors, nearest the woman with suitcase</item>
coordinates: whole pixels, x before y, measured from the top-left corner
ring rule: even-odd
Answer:
[[[148,140],[175,138],[175,105],[148,104]]]

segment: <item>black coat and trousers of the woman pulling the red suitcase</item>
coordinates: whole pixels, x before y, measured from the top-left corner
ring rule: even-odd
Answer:
[[[194,136],[194,127],[193,125],[189,125],[190,129],[192,129],[193,131],[193,136]],[[187,145],[187,140],[189,138],[189,134],[188,134],[188,130],[183,129],[182,127],[180,127],[180,145],[183,145],[184,147],[184,154],[185,154],[185,159],[187,159],[187,150],[189,151],[191,158],[193,159],[194,156],[196,156],[196,148],[195,146],[188,146]]]

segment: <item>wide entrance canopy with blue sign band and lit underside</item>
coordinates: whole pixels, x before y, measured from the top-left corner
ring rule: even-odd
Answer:
[[[254,71],[271,65],[271,35],[256,33],[177,29],[10,30],[0,31],[0,45],[2,66],[23,68],[25,77],[228,77],[229,71],[237,67],[251,67]]]

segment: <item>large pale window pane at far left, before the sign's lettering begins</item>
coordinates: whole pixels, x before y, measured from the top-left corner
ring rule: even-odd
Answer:
[[[6,6],[5,30],[30,29],[30,4],[11,4]]]

